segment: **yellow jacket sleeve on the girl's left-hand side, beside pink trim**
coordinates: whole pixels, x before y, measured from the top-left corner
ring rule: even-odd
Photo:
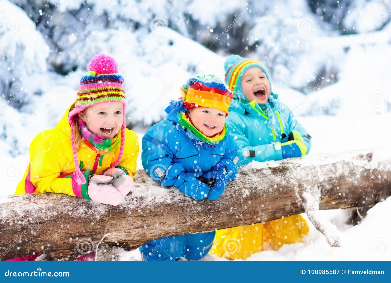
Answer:
[[[65,193],[76,196],[72,178],[59,178],[68,159],[53,130],[37,135],[30,144],[30,181],[40,193]]]

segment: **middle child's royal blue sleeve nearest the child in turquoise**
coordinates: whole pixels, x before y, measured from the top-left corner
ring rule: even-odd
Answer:
[[[224,157],[212,167],[213,171],[217,171],[223,168],[226,168],[228,171],[229,180],[233,180],[237,175],[237,163],[239,161],[238,156],[238,146],[234,141],[232,135],[227,135],[227,138],[224,142],[225,152]]]

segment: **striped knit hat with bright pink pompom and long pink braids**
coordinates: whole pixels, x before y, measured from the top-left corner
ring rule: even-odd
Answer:
[[[110,164],[110,168],[117,166],[122,158],[125,144],[125,90],[122,86],[124,79],[118,74],[117,61],[106,54],[98,54],[90,61],[87,68],[88,72],[80,80],[79,90],[77,91],[75,107],[69,112],[68,122],[71,126],[71,142],[74,154],[75,172],[77,183],[85,184],[86,180],[79,168],[79,160],[74,142],[74,118],[84,109],[106,102],[122,103],[122,113],[124,119],[121,127],[121,146],[117,160]]]

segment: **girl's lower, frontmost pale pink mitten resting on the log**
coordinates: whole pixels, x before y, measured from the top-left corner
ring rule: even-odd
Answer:
[[[88,196],[91,200],[102,204],[120,204],[124,197],[110,184],[112,180],[110,176],[93,175],[88,182]]]

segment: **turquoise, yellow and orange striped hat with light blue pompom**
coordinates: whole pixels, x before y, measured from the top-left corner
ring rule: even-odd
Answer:
[[[230,55],[224,62],[225,70],[225,82],[228,88],[233,91],[234,98],[239,100],[248,101],[242,90],[242,76],[247,69],[252,67],[260,68],[266,75],[267,80],[270,83],[269,74],[265,69],[265,66],[260,62],[253,59],[243,58],[239,55]],[[271,89],[271,87],[270,87]]]

